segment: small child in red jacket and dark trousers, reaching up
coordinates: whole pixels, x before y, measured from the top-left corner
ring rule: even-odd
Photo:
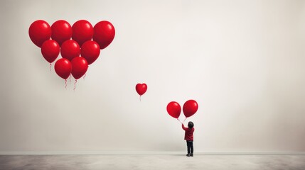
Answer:
[[[193,157],[193,132],[195,130],[193,127],[194,123],[191,121],[188,122],[188,128],[184,127],[182,123],[182,128],[186,131],[184,135],[184,140],[186,140],[186,146],[188,146],[188,154],[186,154],[187,157]]]

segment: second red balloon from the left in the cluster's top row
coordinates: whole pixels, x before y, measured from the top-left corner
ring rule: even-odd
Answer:
[[[65,40],[70,40],[72,37],[72,27],[67,21],[58,20],[52,24],[51,29],[51,38],[57,41],[59,45],[62,45]]]

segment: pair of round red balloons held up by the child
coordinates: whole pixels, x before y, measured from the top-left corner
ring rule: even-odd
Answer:
[[[181,113],[181,106],[176,101],[171,101],[166,107],[167,113],[173,118],[179,118]],[[198,103],[194,100],[188,100],[183,104],[183,114],[186,118],[195,114],[198,111]]]

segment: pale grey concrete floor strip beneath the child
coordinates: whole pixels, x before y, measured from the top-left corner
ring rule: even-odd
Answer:
[[[0,169],[304,170],[305,155],[0,155]]]

